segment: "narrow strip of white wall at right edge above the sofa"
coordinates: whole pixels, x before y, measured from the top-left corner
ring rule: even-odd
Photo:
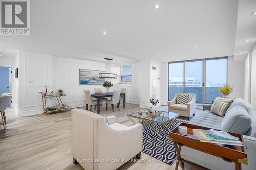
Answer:
[[[251,104],[256,109],[256,45],[251,51]]]

